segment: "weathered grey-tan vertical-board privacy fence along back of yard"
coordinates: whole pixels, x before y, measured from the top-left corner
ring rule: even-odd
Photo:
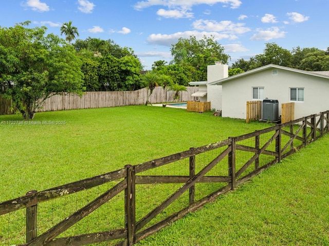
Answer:
[[[198,90],[197,87],[187,87],[187,91],[180,91],[181,101],[192,100],[191,96]],[[149,98],[151,104],[160,104],[173,101],[174,91],[156,87]],[[45,100],[42,111],[58,111],[69,109],[107,108],[129,105],[144,105],[150,90],[143,88],[136,91],[94,91],[86,92],[81,98],[76,94],[53,95]],[[0,114],[8,114],[11,101],[0,96]]]

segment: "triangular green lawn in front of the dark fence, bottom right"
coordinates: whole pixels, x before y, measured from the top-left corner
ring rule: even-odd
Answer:
[[[137,245],[329,245],[329,135]]]

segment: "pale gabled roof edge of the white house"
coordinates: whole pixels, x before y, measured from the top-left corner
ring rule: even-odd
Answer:
[[[231,77],[227,77],[227,78],[223,78],[223,79],[219,79],[216,81],[213,81],[211,83],[209,83],[208,85],[222,85],[222,83],[235,79],[235,78],[239,78],[239,77],[244,77],[244,76],[248,76],[250,74],[253,73],[257,73],[269,68],[275,68],[275,69],[283,69],[283,70],[287,70],[287,71],[291,71],[291,72],[296,72],[296,73],[302,73],[302,74],[307,74],[307,75],[312,75],[312,76],[316,76],[316,77],[323,77],[323,78],[328,78],[329,79],[329,71],[304,71],[304,70],[300,70],[300,69],[295,69],[295,68],[288,68],[288,67],[283,67],[283,66],[279,66],[279,65],[274,65],[274,64],[269,64],[260,68],[256,68],[244,73],[240,73],[240,74],[236,74],[234,76]]]

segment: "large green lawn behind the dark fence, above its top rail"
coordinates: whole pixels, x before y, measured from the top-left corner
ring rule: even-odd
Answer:
[[[43,112],[32,121],[65,125],[10,120],[21,116],[0,116],[1,201],[269,126],[151,106]]]

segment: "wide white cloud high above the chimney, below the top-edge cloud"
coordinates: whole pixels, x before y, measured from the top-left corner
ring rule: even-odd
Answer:
[[[230,20],[216,22],[215,20],[198,19],[195,20],[192,25],[197,30],[204,30],[210,32],[242,34],[250,31],[249,28],[244,27],[244,23],[233,23]]]

